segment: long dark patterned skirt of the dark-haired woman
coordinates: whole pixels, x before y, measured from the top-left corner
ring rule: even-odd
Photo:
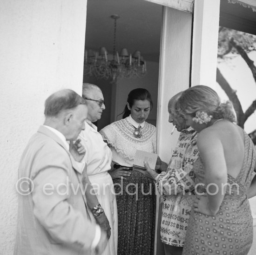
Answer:
[[[155,237],[155,183],[133,170],[114,179],[118,211],[118,255],[153,255]]]

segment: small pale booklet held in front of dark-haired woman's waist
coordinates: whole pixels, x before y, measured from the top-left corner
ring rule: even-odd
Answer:
[[[155,169],[157,156],[158,155],[155,153],[147,152],[144,150],[136,150],[133,163],[133,170],[146,170],[144,167],[144,161],[148,162],[148,165],[151,169]]]

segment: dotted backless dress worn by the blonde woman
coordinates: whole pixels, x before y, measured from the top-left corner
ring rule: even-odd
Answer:
[[[243,131],[244,132],[244,131]],[[230,184],[215,216],[191,210],[182,255],[246,255],[253,241],[253,224],[247,191],[249,189],[256,151],[244,132],[244,159],[236,178],[228,174]],[[194,164],[196,183],[205,183],[202,159]],[[202,186],[203,187],[203,186]],[[197,189],[198,192],[199,189]],[[205,191],[202,189],[202,192]]]

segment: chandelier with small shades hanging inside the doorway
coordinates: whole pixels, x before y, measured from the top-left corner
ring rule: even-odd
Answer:
[[[141,78],[147,72],[146,61],[143,60],[141,52],[135,51],[133,54],[128,53],[126,48],[121,49],[121,52],[116,51],[116,20],[119,15],[111,15],[114,20],[114,41],[113,55],[108,56],[108,51],[105,47],[101,47],[99,52],[93,50],[85,50],[84,75],[94,76],[98,79],[117,78]]]

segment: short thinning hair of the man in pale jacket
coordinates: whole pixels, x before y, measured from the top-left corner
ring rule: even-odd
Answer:
[[[50,95],[45,101],[46,117],[56,117],[61,111],[85,105],[85,100],[70,89],[63,89]]]

